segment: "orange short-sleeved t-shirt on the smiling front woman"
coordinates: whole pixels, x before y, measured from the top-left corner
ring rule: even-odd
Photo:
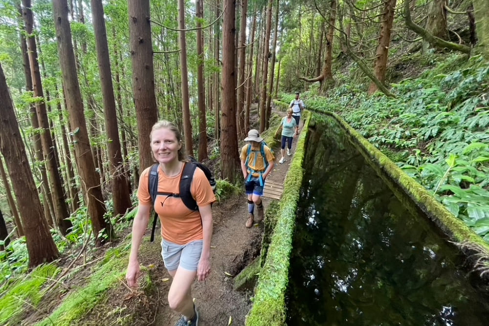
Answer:
[[[148,191],[148,174],[151,167],[143,171],[139,177],[137,197],[139,203],[151,205],[151,195]],[[166,176],[161,167],[158,167],[158,192],[179,193],[180,174],[172,177]],[[199,206],[205,206],[216,201],[216,196],[205,174],[199,168],[195,169],[190,185],[190,193]],[[177,244],[187,244],[191,241],[203,239],[202,222],[199,211],[192,211],[185,206],[181,198],[157,195],[155,212],[161,222],[161,237]]]

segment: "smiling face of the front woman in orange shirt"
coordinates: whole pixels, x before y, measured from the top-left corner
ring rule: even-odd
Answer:
[[[151,134],[151,151],[159,163],[170,163],[178,160],[178,150],[182,147],[175,132],[167,128],[153,130]]]

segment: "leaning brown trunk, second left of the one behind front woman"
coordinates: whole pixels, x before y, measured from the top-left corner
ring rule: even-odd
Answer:
[[[88,212],[92,224],[93,235],[97,245],[106,239],[100,233],[112,236],[110,221],[104,218],[106,211],[99,179],[95,172],[93,157],[90,150],[89,135],[85,115],[83,112],[82,95],[78,84],[75,54],[71,44],[71,29],[68,20],[68,5],[66,0],[53,0],[54,27],[58,40],[58,53],[61,73],[63,76],[67,109],[70,126],[73,129],[73,143],[75,148],[78,172],[81,175],[85,190]]]

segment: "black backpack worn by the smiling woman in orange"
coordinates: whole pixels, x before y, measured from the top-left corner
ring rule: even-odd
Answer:
[[[187,206],[188,209],[192,211],[198,211],[199,206],[197,205],[195,199],[192,197],[192,194],[190,193],[190,185],[192,184],[192,178],[194,177],[194,172],[197,167],[199,167],[200,170],[203,171],[207,180],[209,181],[209,184],[211,185],[212,191],[216,193],[216,180],[214,179],[214,175],[209,170],[209,168],[203,165],[202,163],[197,162],[192,156],[189,156],[189,160],[190,161],[188,162],[184,162],[183,171],[182,174],[180,175],[180,183],[178,185],[178,189],[179,189],[178,194],[158,192],[159,163],[153,164],[148,174],[148,178],[149,178],[148,192],[150,193],[153,206],[155,206],[156,196],[163,195],[168,197],[179,197],[181,198],[181,200],[183,201],[185,206]],[[153,242],[153,240],[155,239],[155,229],[156,229],[157,219],[158,219],[158,214],[156,214],[155,212],[155,217],[153,219],[153,228],[151,230],[151,240],[150,240],[151,242]]]

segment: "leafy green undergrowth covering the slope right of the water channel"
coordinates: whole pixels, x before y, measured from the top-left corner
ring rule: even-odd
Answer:
[[[453,55],[391,85],[394,99],[352,84],[304,98],[308,109],[340,114],[489,242],[488,81],[480,56]]]

